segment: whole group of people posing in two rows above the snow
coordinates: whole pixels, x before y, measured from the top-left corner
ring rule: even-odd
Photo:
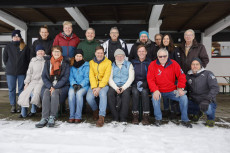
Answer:
[[[117,27],[111,28],[111,38],[103,44],[95,40],[93,28],[86,30],[86,39],[80,42],[69,21],[63,23],[63,32],[54,40],[49,38],[47,26],[42,26],[39,33],[29,49],[20,31],[14,30],[12,42],[3,53],[11,112],[21,113],[21,118],[31,117],[42,107],[36,127],[53,127],[59,104],[65,104],[66,99],[69,123],[82,122],[86,99],[97,127],[104,125],[108,108],[114,124],[127,124],[130,99],[132,123],[139,124],[139,114],[143,113],[141,123],[149,125],[152,100],[155,125],[160,126],[161,98],[166,112],[170,104],[179,103],[181,125],[191,128],[188,114],[198,121],[206,113],[206,125],[214,126],[219,87],[214,74],[205,70],[209,58],[192,29],[185,31],[185,41],[178,47],[170,34],[156,34],[153,42],[147,31],[141,31],[130,53]]]

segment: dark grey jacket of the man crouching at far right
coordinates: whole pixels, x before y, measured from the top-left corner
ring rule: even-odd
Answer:
[[[214,74],[202,68],[197,74],[190,70],[186,76],[188,97],[200,103],[203,100],[216,102],[216,95],[219,93],[219,86]]]

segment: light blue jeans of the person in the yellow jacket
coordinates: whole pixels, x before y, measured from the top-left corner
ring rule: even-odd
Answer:
[[[106,115],[106,107],[107,107],[107,92],[109,90],[109,86],[105,86],[104,88],[101,88],[99,92],[99,115],[104,116]],[[93,94],[93,90],[89,88],[87,95],[86,95],[86,100],[90,107],[92,108],[93,111],[98,109],[95,96]]]

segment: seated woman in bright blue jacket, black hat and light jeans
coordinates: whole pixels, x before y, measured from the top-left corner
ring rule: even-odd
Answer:
[[[70,62],[69,123],[82,121],[83,96],[89,88],[89,62],[85,62],[83,56],[83,50],[76,49]]]

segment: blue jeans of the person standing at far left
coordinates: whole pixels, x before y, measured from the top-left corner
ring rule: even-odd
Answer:
[[[18,95],[24,88],[24,80],[26,75],[6,75],[7,85],[9,88],[10,105],[16,105],[16,82],[18,80]]]

